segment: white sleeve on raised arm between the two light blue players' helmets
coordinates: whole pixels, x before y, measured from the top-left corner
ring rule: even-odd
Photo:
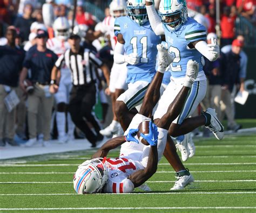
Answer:
[[[154,9],[154,5],[146,6],[147,16],[149,17],[150,25],[154,33],[157,36],[164,34],[163,24],[161,23],[161,19],[157,14],[156,9]]]

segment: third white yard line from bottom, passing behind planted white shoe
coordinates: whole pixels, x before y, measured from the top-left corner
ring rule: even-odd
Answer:
[[[172,183],[175,181],[146,181],[146,183]],[[194,182],[256,182],[256,180],[196,180]],[[0,184],[24,184],[24,183],[73,183],[72,181],[7,181]]]

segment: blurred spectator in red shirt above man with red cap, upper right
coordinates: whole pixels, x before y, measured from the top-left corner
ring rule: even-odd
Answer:
[[[220,20],[221,46],[232,44],[235,36],[235,18],[237,16],[234,13],[234,7],[232,12],[229,7],[225,7]]]

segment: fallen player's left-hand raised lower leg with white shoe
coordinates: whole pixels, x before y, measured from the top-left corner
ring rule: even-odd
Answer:
[[[159,62],[158,72],[150,83],[149,88],[147,88],[142,107],[139,111],[140,115],[144,115],[149,118],[152,116],[152,110],[160,98],[160,87],[163,81],[164,72],[173,61],[172,55],[168,53],[167,49],[163,45],[157,45],[157,49]]]

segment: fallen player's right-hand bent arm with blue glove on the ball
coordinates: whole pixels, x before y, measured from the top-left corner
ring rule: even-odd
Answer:
[[[137,172],[132,173],[128,179],[132,181],[134,187],[139,187],[150,177],[156,173],[157,171],[157,164],[158,164],[158,152],[157,152],[157,140],[158,140],[158,131],[157,126],[150,122],[149,125],[149,134],[145,136],[144,134],[140,134],[147,143],[150,144],[150,153],[149,153],[149,160],[147,161],[147,166],[144,169],[140,169]]]

